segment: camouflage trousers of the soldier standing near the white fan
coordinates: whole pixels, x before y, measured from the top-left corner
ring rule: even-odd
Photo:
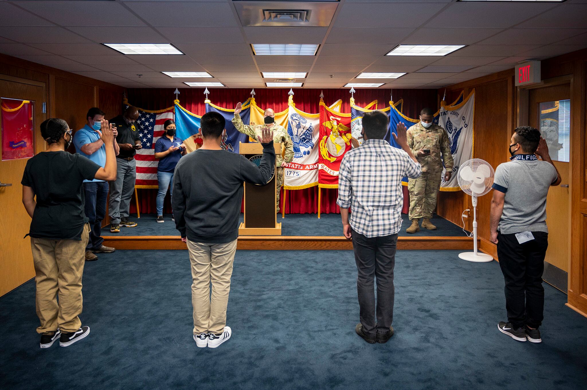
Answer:
[[[440,189],[442,172],[422,172],[417,179],[409,179],[410,220],[432,218],[436,208],[436,198]]]

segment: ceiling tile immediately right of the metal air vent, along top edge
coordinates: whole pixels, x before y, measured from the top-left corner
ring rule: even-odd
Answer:
[[[336,17],[335,27],[369,26],[369,27],[413,27],[419,26],[424,20],[430,19],[445,4],[429,3],[426,6],[397,2],[385,4],[380,2],[343,4]],[[339,6],[340,8],[340,6]]]

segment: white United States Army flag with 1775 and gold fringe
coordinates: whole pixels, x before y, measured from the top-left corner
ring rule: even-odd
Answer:
[[[318,185],[320,114],[308,114],[290,105],[286,128],[294,143],[294,159],[284,166],[284,189],[301,190]]]

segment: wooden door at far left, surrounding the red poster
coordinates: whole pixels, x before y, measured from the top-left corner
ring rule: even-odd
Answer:
[[[39,129],[39,125],[45,120],[45,84],[36,81],[28,83],[27,80],[0,75],[0,98],[31,101],[33,147],[36,154],[46,149],[46,142]],[[0,145],[1,142],[2,131]],[[11,184],[0,186],[0,296],[35,276],[31,240],[29,237],[23,238],[29,232],[31,224],[31,217],[22,205],[21,179],[27,161],[28,158],[0,160],[0,182]]]

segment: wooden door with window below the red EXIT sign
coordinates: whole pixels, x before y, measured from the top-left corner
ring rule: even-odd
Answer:
[[[529,125],[541,131],[549,154],[561,175],[561,185],[551,187],[546,198],[548,251],[544,280],[566,292],[571,264],[571,88],[569,84],[529,91]],[[549,267],[553,265],[558,269]],[[562,270],[564,272],[560,272]]]

